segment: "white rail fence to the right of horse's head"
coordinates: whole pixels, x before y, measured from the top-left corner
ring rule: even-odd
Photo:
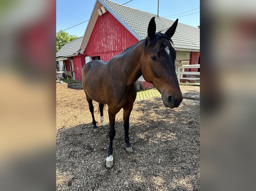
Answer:
[[[184,80],[200,80],[200,72],[184,72],[184,68],[200,68],[200,64],[193,65],[182,65],[179,67],[175,67],[178,82],[182,79]],[[183,78],[182,75],[185,74],[186,78]],[[192,76],[196,76],[196,78],[192,78]]]

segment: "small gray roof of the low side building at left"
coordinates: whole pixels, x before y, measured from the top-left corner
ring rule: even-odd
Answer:
[[[69,57],[78,54],[80,52],[80,45],[82,40],[83,37],[80,37],[61,47],[59,51],[56,52],[56,58]]]

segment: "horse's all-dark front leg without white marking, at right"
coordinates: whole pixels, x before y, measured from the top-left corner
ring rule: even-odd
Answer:
[[[129,139],[129,118],[130,114],[133,108],[133,104],[131,104],[128,107],[124,107],[124,141],[125,141],[125,149],[127,152],[133,152],[132,146],[130,144],[130,139]]]

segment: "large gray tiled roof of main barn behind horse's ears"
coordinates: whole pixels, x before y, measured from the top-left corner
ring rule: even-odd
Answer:
[[[133,9],[109,0],[98,1],[101,2],[101,4],[109,12],[111,12],[112,15],[114,15],[132,34],[134,34],[138,40],[145,39],[147,37],[148,23],[152,17],[155,17],[156,32],[162,31],[164,33],[174,22],[169,19],[157,17],[154,14]],[[178,23],[176,32],[172,37],[172,41],[175,49],[200,51],[200,29]]]

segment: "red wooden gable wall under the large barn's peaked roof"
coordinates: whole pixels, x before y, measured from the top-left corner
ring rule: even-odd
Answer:
[[[136,39],[110,12],[98,17],[85,55],[100,56],[108,62],[113,56],[136,44]]]

